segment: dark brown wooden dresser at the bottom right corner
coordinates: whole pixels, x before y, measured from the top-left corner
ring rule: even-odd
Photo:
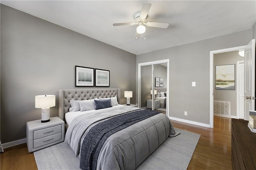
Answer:
[[[232,119],[231,162],[233,170],[256,170],[256,133],[248,121]]]

